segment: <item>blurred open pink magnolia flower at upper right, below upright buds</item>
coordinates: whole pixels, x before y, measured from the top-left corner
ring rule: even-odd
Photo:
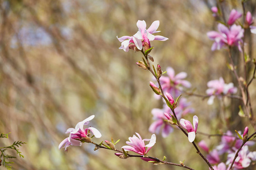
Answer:
[[[240,25],[232,25],[230,28],[223,24],[218,24],[218,31],[210,31],[207,36],[210,40],[214,40],[212,50],[221,49],[224,45],[238,46],[241,51],[240,42],[242,42],[244,30]]]

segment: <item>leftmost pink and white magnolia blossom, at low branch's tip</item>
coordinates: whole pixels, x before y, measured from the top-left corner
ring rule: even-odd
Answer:
[[[64,146],[65,151],[67,151],[67,147],[70,145],[81,146],[82,142],[89,142],[90,141],[89,131],[91,131],[96,138],[100,138],[101,133],[96,128],[89,127],[89,128],[84,129],[84,125],[88,125],[89,121],[92,120],[93,118],[94,118],[94,115],[79,122],[75,128],[69,128],[66,131],[66,133],[69,133],[69,137],[65,138],[60,143],[59,149]]]

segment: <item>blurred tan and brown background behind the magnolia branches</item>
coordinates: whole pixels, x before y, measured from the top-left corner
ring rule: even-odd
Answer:
[[[233,81],[226,66],[226,50],[212,52],[213,41],[207,32],[216,30],[217,23],[210,8],[215,1],[124,1],[124,0],[1,0],[0,1],[0,132],[9,133],[0,146],[14,141],[27,144],[20,147],[24,158],[14,159],[14,169],[184,169],[170,165],[153,165],[141,159],[119,159],[113,151],[97,150],[84,143],[71,146],[68,152],[58,146],[68,137],[65,131],[94,114],[90,125],[101,131],[100,143],[113,137],[121,139],[121,148],[135,132],[150,138],[151,110],[162,108],[155,100],[149,71],[135,64],[141,53],[118,49],[117,36],[134,35],[136,23],[145,20],[147,28],[160,20],[157,35],[167,41],[153,41],[151,52],[154,65],[162,70],[168,66],[175,73],[185,71],[195,94],[206,95],[207,82],[219,79]],[[255,16],[255,1],[246,2],[246,11]],[[224,1],[225,16],[232,8],[242,12],[240,1]],[[255,56],[255,35],[246,32],[246,52]],[[234,56],[239,53],[234,51]],[[239,68],[238,68],[239,69]],[[249,75],[251,71],[249,70]],[[251,84],[252,101],[256,97],[255,82]],[[239,94],[238,94],[239,95]],[[203,133],[225,133],[242,130],[249,125],[247,118],[238,117],[238,101],[188,96],[195,113],[184,118],[199,117]],[[255,111],[255,105],[253,106]],[[225,114],[226,123],[220,121]],[[249,134],[253,128],[249,125]],[[216,147],[220,137],[208,138],[197,134],[210,147]],[[251,148],[250,150],[255,150]],[[15,153],[13,153],[15,155]],[[205,155],[205,153],[203,152]],[[187,137],[175,129],[167,138],[156,136],[156,145],[149,156],[184,164],[194,169],[208,169],[196,154]],[[3,168],[3,167],[1,167]],[[4,168],[3,168],[4,169]]]

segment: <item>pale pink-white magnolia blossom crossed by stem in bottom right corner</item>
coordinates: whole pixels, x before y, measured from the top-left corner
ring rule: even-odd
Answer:
[[[238,156],[234,162],[233,167],[237,169],[243,169],[243,168],[249,167],[251,163],[250,155],[253,155],[253,154],[250,154],[250,155],[249,154],[250,154],[250,151],[248,150],[248,146],[247,145],[243,146],[240,152],[238,152]],[[235,155],[236,155],[236,152],[229,154],[226,164],[231,164]]]

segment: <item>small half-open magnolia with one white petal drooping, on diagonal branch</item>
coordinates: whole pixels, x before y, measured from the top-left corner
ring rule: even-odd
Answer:
[[[180,119],[180,125],[183,126],[183,128],[187,129],[188,131],[188,141],[193,142],[196,138],[196,130],[198,126],[198,117],[193,116],[193,125],[188,120],[185,120],[184,118]]]

